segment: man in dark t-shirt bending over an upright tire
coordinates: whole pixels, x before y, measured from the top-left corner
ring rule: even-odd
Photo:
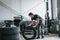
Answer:
[[[33,28],[37,28],[37,30],[38,30],[38,37],[37,38],[40,38],[40,36],[39,36],[39,34],[40,34],[39,27],[41,26],[41,28],[42,28],[42,18],[38,15],[33,14],[32,12],[30,12],[28,15],[30,16],[32,21],[35,20],[35,25],[33,26]],[[30,23],[29,25],[32,25],[32,23]],[[42,38],[43,38],[42,33],[41,33],[41,35],[42,35]]]

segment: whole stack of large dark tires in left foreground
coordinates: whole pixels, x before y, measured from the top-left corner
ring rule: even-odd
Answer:
[[[19,40],[19,27],[0,28],[1,40]]]

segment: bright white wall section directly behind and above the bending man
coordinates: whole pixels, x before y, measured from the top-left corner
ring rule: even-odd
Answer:
[[[21,4],[22,14],[28,17],[29,12],[40,15],[43,19],[46,13],[46,5],[44,0],[22,0]]]

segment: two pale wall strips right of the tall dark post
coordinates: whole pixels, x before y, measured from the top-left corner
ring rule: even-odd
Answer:
[[[48,0],[48,5],[49,5],[49,16],[50,19],[52,18],[52,11],[53,11],[53,18],[56,19],[57,18],[57,0],[52,0],[52,5],[53,8],[51,7],[51,0]],[[53,10],[52,10],[53,9]]]

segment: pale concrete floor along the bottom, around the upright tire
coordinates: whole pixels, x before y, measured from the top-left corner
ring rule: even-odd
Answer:
[[[20,35],[20,40],[25,40],[22,35]],[[33,39],[33,40],[60,40],[57,34],[45,35],[43,39]]]

